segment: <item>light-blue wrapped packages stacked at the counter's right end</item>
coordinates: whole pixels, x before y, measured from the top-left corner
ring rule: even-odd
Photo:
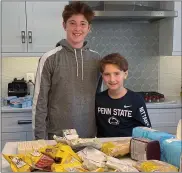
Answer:
[[[147,127],[136,127],[133,129],[132,136],[133,138],[143,138],[145,140],[159,143],[158,148],[155,146],[151,152],[148,151],[148,157],[154,157],[154,155],[160,154],[160,157],[158,157],[156,160],[160,160],[160,162],[167,162],[174,165],[178,169],[180,168],[182,141],[181,139],[177,138],[177,135],[172,135]]]

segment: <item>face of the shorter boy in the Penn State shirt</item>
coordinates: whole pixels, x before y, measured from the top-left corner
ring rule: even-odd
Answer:
[[[118,91],[123,88],[124,80],[127,75],[128,71],[121,71],[117,65],[106,64],[102,78],[109,90]]]

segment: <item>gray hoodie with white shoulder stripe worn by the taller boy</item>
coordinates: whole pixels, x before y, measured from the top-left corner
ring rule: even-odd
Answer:
[[[73,49],[65,39],[57,46],[39,60],[32,109],[35,139],[70,128],[80,137],[94,137],[100,56],[86,42],[82,49]]]

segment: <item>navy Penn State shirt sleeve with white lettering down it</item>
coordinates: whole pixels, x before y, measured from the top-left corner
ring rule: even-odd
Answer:
[[[148,115],[147,107],[143,98],[137,100],[138,106],[135,114],[135,119],[146,127],[152,127],[150,118]]]

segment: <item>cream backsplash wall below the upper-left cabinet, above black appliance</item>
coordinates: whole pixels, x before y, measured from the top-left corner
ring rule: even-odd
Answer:
[[[2,97],[7,96],[8,83],[12,82],[15,77],[26,80],[26,73],[36,75],[38,60],[38,57],[2,58]]]

